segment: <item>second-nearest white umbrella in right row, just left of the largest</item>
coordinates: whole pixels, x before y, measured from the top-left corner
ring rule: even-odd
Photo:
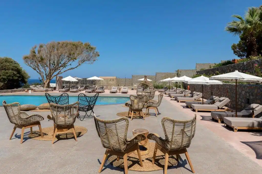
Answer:
[[[208,77],[205,76],[200,76],[200,77],[196,77],[194,79],[191,79],[189,81],[185,81],[185,83],[187,84],[199,84],[202,85],[202,104],[204,104],[204,90],[203,90],[203,85],[222,85],[221,81],[218,80],[209,80]]]

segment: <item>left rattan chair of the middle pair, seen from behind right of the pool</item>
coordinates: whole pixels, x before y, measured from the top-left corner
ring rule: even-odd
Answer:
[[[134,112],[136,112],[137,115],[139,113],[140,117],[141,117],[141,112],[142,112],[142,116],[145,119],[143,111],[142,111],[145,105],[145,95],[142,95],[142,96],[130,95],[129,98],[130,98],[131,104],[129,104],[129,111],[128,111],[127,117],[129,117],[129,114],[131,113],[131,121],[132,121]]]

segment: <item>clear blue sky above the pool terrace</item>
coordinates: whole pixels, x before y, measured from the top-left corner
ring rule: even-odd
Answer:
[[[90,42],[100,57],[63,76],[154,75],[195,69],[195,63],[235,58],[238,41],[224,29],[232,14],[243,16],[261,0],[220,1],[1,1],[0,56],[23,63],[34,45]]]

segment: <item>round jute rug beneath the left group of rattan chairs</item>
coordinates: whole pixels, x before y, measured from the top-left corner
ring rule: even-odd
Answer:
[[[28,137],[34,140],[52,141],[54,127],[42,128],[42,131],[43,131],[43,138],[41,137],[39,130],[33,131],[33,134],[32,135],[29,134]],[[87,132],[87,129],[85,127],[75,126],[75,134],[77,135],[77,137],[84,135],[86,132]],[[64,139],[69,139],[69,138],[74,138],[72,129],[57,133],[55,140],[64,140]]]

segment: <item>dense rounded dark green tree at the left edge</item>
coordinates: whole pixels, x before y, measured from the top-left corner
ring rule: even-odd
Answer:
[[[30,76],[10,57],[0,57],[0,89],[20,88]]]

